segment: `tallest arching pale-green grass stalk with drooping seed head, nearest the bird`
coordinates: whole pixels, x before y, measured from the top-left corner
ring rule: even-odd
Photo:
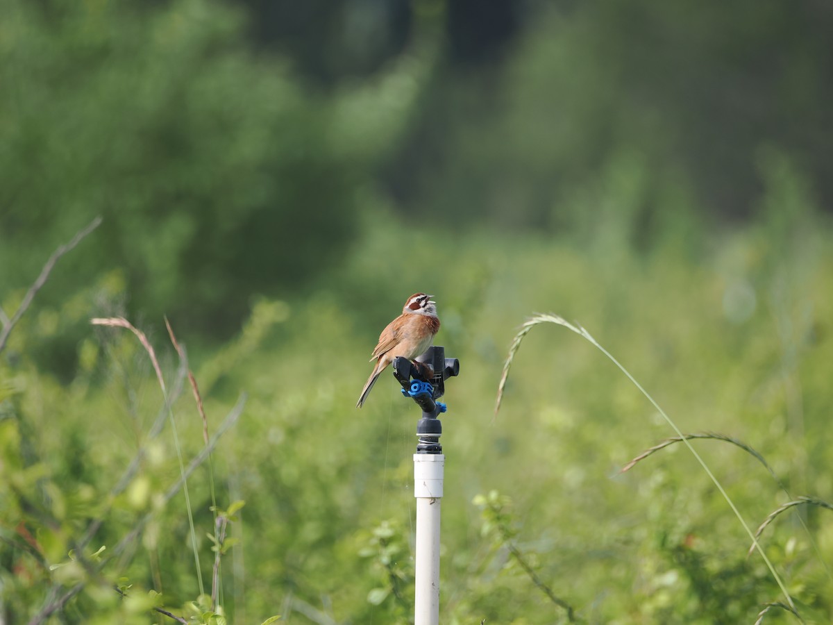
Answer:
[[[666,420],[666,423],[668,423],[671,426],[671,429],[674,430],[676,435],[679,438],[681,438],[682,443],[684,443],[686,445],[686,448],[688,448],[688,450],[691,452],[691,455],[693,455],[694,458],[696,458],[697,462],[700,463],[700,466],[706,472],[706,475],[709,476],[709,478],[711,479],[711,482],[714,483],[715,487],[721,493],[723,498],[726,499],[726,503],[729,504],[729,507],[731,508],[731,511],[735,513],[735,516],[737,517],[737,520],[739,522],[741,522],[741,526],[743,526],[744,530],[746,530],[746,533],[749,534],[749,537],[752,540],[753,546],[756,548],[757,552],[759,552],[761,554],[761,557],[763,558],[764,562],[766,562],[766,567],[770,569],[770,572],[772,574],[773,579],[775,579],[776,583],[778,584],[778,587],[781,588],[781,592],[784,594],[784,597],[786,598],[786,602],[787,602],[788,606],[791,608],[791,612],[793,612],[797,616],[798,612],[796,612],[796,605],[795,605],[795,603],[793,603],[792,597],[790,596],[790,592],[787,591],[786,585],[784,584],[783,580],[781,579],[781,576],[778,574],[778,572],[776,572],[775,567],[772,565],[772,562],[770,562],[770,558],[766,557],[766,552],[764,552],[763,548],[761,547],[761,544],[758,542],[755,534],[752,532],[749,525],[747,525],[746,521],[743,520],[743,517],[741,516],[741,512],[737,509],[737,507],[735,505],[735,502],[733,502],[731,500],[731,497],[729,497],[729,493],[726,493],[726,489],[723,488],[723,485],[715,477],[715,474],[711,473],[711,469],[706,464],[706,461],[703,460],[703,458],[701,458],[700,454],[697,453],[696,449],[691,445],[691,443],[689,443],[688,438],[686,438],[685,435],[683,435],[681,429],[678,428],[676,423],[674,423],[671,420],[671,418],[666,414],[666,412],[662,408],[660,408],[660,405],[658,403],[656,403],[654,398],[652,398],[651,395],[644,388],[642,388],[640,383],[636,382],[636,378],[634,378],[631,375],[631,373],[629,373],[628,370],[626,368],[624,368],[621,365],[621,363],[619,363],[618,360],[616,360],[616,358],[613,358],[613,356],[611,355],[610,352],[608,352],[605,348],[601,347],[601,345],[598,342],[596,342],[596,339],[593,338],[591,336],[591,333],[587,332],[586,329],[581,328],[581,326],[579,326],[577,324],[574,325],[574,324],[566,321],[565,318],[562,318],[562,317],[560,317],[558,315],[555,315],[555,314],[536,314],[535,317],[531,318],[529,321],[524,323],[523,326],[521,327],[520,332],[518,332],[515,335],[515,338],[512,339],[511,347],[509,348],[509,356],[506,358],[506,363],[504,363],[504,365],[503,365],[503,373],[501,375],[501,382],[498,384],[498,388],[497,388],[497,399],[496,399],[496,403],[495,403],[495,418],[497,417],[497,412],[501,408],[501,401],[503,399],[503,392],[504,392],[504,389],[506,388],[506,378],[509,377],[509,369],[511,368],[512,360],[514,360],[515,354],[517,353],[518,348],[521,347],[521,341],[523,340],[524,337],[526,337],[526,334],[528,334],[531,331],[532,328],[535,328],[537,325],[539,325],[541,323],[555,323],[556,325],[564,326],[565,328],[567,328],[569,330],[572,330],[574,333],[580,335],[581,337],[586,338],[586,340],[589,341],[591,344],[593,344],[596,348],[598,348],[601,351],[601,353],[605,354],[605,356],[610,359],[611,363],[615,364],[616,367],[618,367],[621,370],[621,372],[626,375],[626,377],[631,381],[631,383],[636,388],[639,389],[640,393],[642,393],[642,395],[644,395],[645,398],[649,402],[651,402],[653,407],[656,408],[657,412],[659,412],[662,415],[662,418],[664,418]],[[801,617],[799,617],[799,618],[801,618]]]

